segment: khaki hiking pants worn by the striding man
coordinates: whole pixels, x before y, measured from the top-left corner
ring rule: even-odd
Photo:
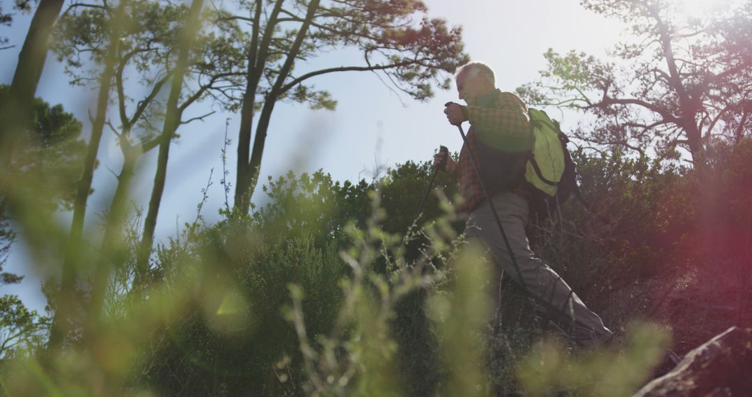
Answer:
[[[559,274],[530,250],[525,232],[529,215],[526,198],[513,192],[499,192],[493,196],[493,204],[496,213],[499,214],[499,220],[502,221],[514,258],[517,259],[526,289],[535,296],[536,301],[547,306],[561,319],[574,319],[574,326],[572,323],[565,323],[563,329],[572,332],[572,338],[579,344],[597,344],[610,337],[612,333],[603,325],[601,318],[585,306]],[[478,244],[478,241],[481,241],[498,265],[493,280],[494,302],[498,310],[502,274],[499,270],[504,271],[518,284],[520,277],[512,264],[488,202],[482,203],[468,217],[465,237],[468,244]]]

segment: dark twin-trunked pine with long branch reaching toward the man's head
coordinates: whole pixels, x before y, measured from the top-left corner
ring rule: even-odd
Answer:
[[[247,24],[247,71],[240,91],[228,92],[241,111],[235,207],[247,214],[259,176],[271,114],[277,102],[307,103],[313,109],[335,108],[329,92],[308,84],[313,77],[340,71],[382,74],[411,97],[432,96],[431,82],[443,89],[452,72],[468,60],[462,53],[461,29],[448,29],[444,20],[429,20],[417,0],[277,0],[249,4],[248,16],[226,14]],[[414,16],[423,19],[415,26]],[[296,74],[296,62],[353,47],[362,52],[359,65],[322,68]],[[256,133],[251,150],[254,117]]]

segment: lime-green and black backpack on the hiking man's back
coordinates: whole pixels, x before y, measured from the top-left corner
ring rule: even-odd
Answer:
[[[535,143],[525,166],[525,180],[548,205],[561,204],[572,192],[578,195],[576,165],[566,147],[569,138],[546,112],[530,108],[528,114]]]

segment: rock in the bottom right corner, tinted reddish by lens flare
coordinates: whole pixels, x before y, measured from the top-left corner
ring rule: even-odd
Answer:
[[[634,397],[752,395],[752,329],[732,326],[687,353],[676,368]]]

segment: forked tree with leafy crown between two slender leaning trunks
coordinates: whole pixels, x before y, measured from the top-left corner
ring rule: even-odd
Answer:
[[[125,11],[124,20],[115,21],[120,6]],[[101,73],[99,65],[108,59],[108,32],[120,29],[119,43],[114,53],[111,83],[116,92],[116,112],[118,123],[107,120],[106,124],[117,135],[123,153],[123,165],[117,175],[117,188],[105,217],[105,234],[102,238],[101,255],[94,261],[96,272],[92,299],[92,319],[98,317],[99,303],[112,268],[122,265],[126,257],[126,247],[120,233],[127,215],[127,202],[130,184],[135,176],[135,165],[144,153],[162,142],[170,144],[177,137],[175,130],[183,123],[200,120],[194,117],[183,120],[183,112],[193,103],[208,95],[220,79],[228,80],[231,66],[242,65],[232,40],[225,35],[217,35],[211,29],[199,29],[198,38],[186,60],[186,77],[180,79],[184,85],[182,95],[177,95],[177,123],[171,133],[159,131],[156,121],[165,115],[165,84],[176,73],[175,54],[182,45],[182,35],[188,7],[168,2],[121,2],[117,5],[77,4],[62,17],[56,32],[53,49],[60,60],[65,60],[66,71],[71,83],[85,86],[99,85]],[[117,25],[117,26],[116,26]],[[226,28],[226,32],[232,29]],[[238,62],[239,61],[239,62]],[[133,78],[135,77],[135,78]],[[146,92],[138,101],[133,92]],[[141,95],[140,93],[138,95]],[[166,137],[166,138],[165,138]],[[166,139],[166,141],[165,141]],[[164,164],[166,165],[166,157]],[[160,195],[161,197],[161,195]],[[85,205],[80,214],[85,213]],[[156,212],[150,208],[150,220],[156,220]],[[76,225],[80,227],[81,225]],[[153,228],[153,225],[151,225]],[[152,235],[153,235],[153,229]],[[150,247],[150,246],[149,246]],[[148,257],[147,257],[148,259]],[[147,263],[147,262],[146,262]],[[138,272],[135,284],[142,282],[144,272]]]

